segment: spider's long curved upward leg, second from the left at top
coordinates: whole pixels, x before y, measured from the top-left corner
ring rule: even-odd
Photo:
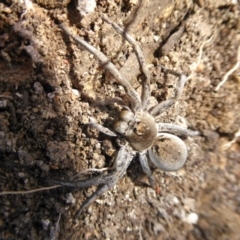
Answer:
[[[143,81],[143,90],[142,90],[142,107],[143,110],[146,110],[147,103],[150,97],[150,75],[148,72],[147,64],[145,62],[145,58],[143,56],[142,49],[139,45],[139,43],[131,37],[126,30],[122,29],[120,26],[118,26],[116,23],[110,21],[105,15],[101,15],[104,21],[109,23],[118,33],[120,33],[132,46],[133,49],[137,55],[138,63],[140,65],[141,71],[144,75],[144,81]]]

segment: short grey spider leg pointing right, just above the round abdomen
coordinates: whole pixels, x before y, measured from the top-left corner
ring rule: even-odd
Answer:
[[[158,133],[168,132],[177,136],[198,136],[198,131],[192,131],[172,123],[157,123]]]

